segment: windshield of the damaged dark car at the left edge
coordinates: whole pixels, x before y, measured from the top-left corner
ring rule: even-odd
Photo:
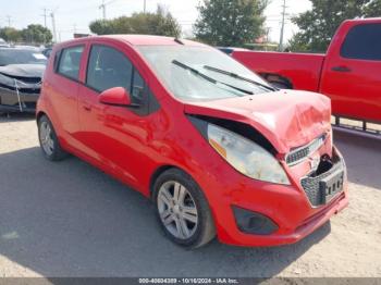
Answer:
[[[47,58],[36,50],[0,49],[0,66],[9,64],[47,64]]]

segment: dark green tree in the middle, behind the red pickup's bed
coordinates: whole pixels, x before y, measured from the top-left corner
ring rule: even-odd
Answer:
[[[196,37],[214,46],[243,46],[265,34],[267,0],[204,0],[194,26]]]

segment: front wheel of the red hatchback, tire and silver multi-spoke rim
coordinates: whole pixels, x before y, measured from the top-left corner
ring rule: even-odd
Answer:
[[[175,244],[198,248],[214,238],[216,228],[208,202],[200,187],[183,171],[170,169],[163,172],[155,182],[152,198],[158,222]]]

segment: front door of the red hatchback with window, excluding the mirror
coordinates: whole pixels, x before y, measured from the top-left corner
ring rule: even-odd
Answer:
[[[99,95],[112,87],[125,88],[134,107],[100,103]],[[87,154],[132,185],[138,185],[138,174],[149,160],[147,90],[125,53],[109,45],[91,46],[86,83],[79,88],[82,140]]]

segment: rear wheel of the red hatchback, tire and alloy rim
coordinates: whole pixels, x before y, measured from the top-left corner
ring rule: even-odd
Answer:
[[[50,161],[60,161],[67,157],[67,152],[65,152],[61,146],[58,137],[56,135],[56,131],[50,120],[42,115],[38,120],[38,140],[44,153],[44,157]]]

